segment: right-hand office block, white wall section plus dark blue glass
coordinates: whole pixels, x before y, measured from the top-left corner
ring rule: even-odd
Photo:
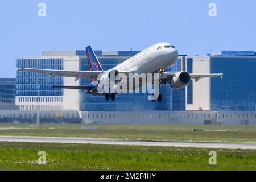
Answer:
[[[193,73],[224,73],[224,77],[192,81],[192,88],[186,88],[186,110],[256,110],[254,51],[222,51],[217,56],[187,59],[193,60]]]

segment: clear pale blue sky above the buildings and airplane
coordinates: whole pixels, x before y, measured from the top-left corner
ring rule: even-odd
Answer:
[[[46,3],[39,18],[38,4]],[[217,17],[208,15],[209,3]],[[158,42],[179,53],[256,50],[256,1],[1,0],[0,77],[15,77],[15,60],[44,50],[142,50]]]

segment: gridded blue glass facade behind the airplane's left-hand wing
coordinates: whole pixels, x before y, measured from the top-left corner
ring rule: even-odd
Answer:
[[[56,69],[63,70],[63,59],[18,59],[16,68]],[[63,89],[53,89],[53,86],[63,86],[63,77],[32,72],[16,73],[16,96],[63,96]]]

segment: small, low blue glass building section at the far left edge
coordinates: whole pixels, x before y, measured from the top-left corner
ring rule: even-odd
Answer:
[[[0,78],[0,104],[15,104],[15,78]]]

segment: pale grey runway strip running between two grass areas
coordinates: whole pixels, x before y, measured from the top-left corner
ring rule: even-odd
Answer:
[[[162,147],[193,147],[193,148],[226,148],[256,150],[256,143],[214,143],[214,142],[160,142],[117,140],[102,138],[63,138],[63,137],[14,137],[0,136],[0,142],[32,142],[32,143],[80,143],[110,144],[123,146],[162,146]]]

